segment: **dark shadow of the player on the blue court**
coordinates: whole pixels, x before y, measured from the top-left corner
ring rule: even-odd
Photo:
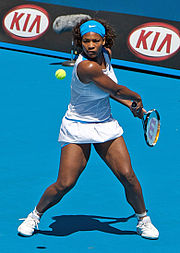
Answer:
[[[116,235],[136,235],[135,231],[120,230],[111,226],[111,224],[119,222],[127,222],[133,218],[131,215],[127,218],[112,218],[89,215],[62,215],[55,216],[54,222],[49,226],[52,231],[38,230],[36,233],[50,236],[68,236],[79,231],[101,231],[104,233]],[[110,221],[99,221],[110,220]]]

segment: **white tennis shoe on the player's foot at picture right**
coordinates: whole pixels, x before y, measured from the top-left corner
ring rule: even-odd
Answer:
[[[142,220],[138,221],[137,233],[147,239],[158,239],[159,231],[152,224],[149,216],[144,217]]]

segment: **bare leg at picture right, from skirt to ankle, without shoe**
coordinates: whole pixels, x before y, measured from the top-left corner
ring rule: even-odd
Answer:
[[[135,213],[145,213],[146,208],[140,183],[132,169],[131,160],[123,137],[94,144],[100,157],[123,184],[128,203]]]

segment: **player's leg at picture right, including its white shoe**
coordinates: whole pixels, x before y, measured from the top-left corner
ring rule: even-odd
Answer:
[[[151,223],[150,217],[146,215],[142,189],[132,169],[123,137],[105,143],[94,144],[94,147],[123,184],[127,201],[138,218],[137,233],[147,239],[158,239],[159,231]]]

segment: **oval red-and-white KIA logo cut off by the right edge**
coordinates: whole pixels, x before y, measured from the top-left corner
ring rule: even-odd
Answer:
[[[139,58],[162,61],[178,52],[180,33],[177,28],[166,23],[146,23],[130,33],[128,46]]]

